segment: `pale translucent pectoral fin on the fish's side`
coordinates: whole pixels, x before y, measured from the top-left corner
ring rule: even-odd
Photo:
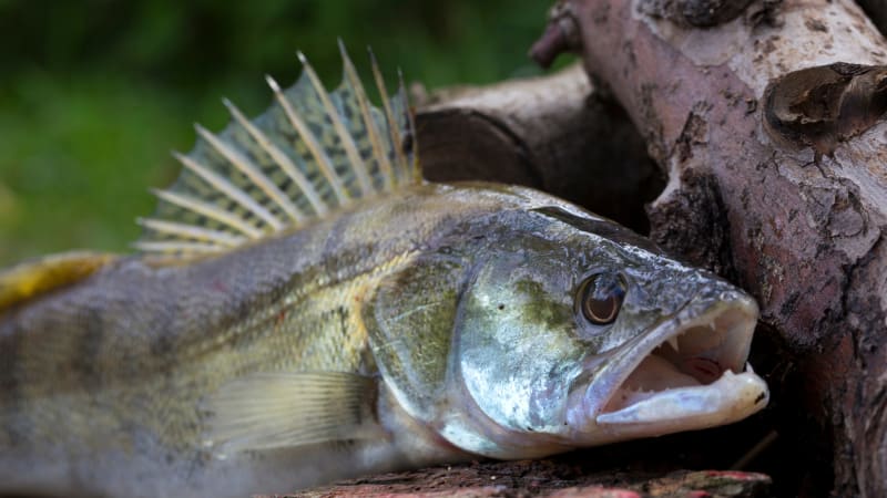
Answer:
[[[254,374],[206,400],[205,444],[222,453],[384,437],[377,381],[341,372]]]

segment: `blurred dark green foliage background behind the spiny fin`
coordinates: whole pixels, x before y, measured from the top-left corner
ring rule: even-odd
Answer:
[[[125,251],[193,123],[221,129],[290,84],[302,50],[327,85],[341,37],[363,74],[428,89],[540,73],[546,0],[0,0],[0,267],[72,248]],[[394,77],[391,77],[391,83]]]

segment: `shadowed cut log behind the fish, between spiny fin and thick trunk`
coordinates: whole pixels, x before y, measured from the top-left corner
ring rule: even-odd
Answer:
[[[646,231],[643,203],[662,189],[663,175],[625,112],[592,89],[579,64],[544,77],[412,93],[428,179],[526,185]]]

